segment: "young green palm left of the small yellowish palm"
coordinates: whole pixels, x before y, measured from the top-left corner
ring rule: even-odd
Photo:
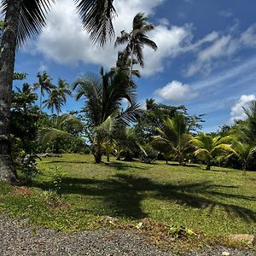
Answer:
[[[156,131],[158,131],[160,135],[153,137],[152,145],[164,154],[166,164],[171,154],[174,154],[179,164],[184,165],[184,154],[189,150],[189,140],[191,139],[185,116],[181,113],[177,113],[172,119],[165,119],[163,128],[156,128]]]

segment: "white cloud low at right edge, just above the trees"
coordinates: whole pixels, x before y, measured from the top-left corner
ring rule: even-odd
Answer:
[[[255,101],[255,95],[242,95],[238,102],[231,108],[230,123],[233,123],[235,119],[246,119],[247,115],[244,113],[243,108],[247,108],[248,103]]]

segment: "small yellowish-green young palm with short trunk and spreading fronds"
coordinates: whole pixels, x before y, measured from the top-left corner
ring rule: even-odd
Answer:
[[[195,145],[195,156],[201,156],[207,162],[207,170],[211,169],[212,158],[218,152],[229,152],[236,154],[235,150],[227,142],[230,142],[230,137],[212,137],[204,132],[194,137],[190,143]]]

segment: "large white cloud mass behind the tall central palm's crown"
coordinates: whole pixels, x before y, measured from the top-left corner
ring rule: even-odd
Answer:
[[[118,17],[113,20],[116,35],[126,30],[131,31],[132,19],[138,12],[154,15],[154,9],[164,0],[116,0],[115,8]],[[168,26],[168,20],[161,19],[160,25],[155,26],[149,33],[157,45],[154,52],[148,47],[144,48],[145,67],[143,75],[149,76],[163,71],[165,60],[176,56],[181,49],[190,44],[192,39],[191,26]],[[83,61],[88,64],[113,67],[118,49],[112,44],[99,49],[94,47],[87,32],[81,27],[79,15],[73,1],[58,0],[48,15],[47,26],[38,37],[35,48],[46,57],[61,64],[78,64]],[[29,49],[31,51],[31,49]]]

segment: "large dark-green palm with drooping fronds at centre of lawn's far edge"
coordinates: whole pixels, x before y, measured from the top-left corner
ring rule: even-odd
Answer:
[[[76,99],[84,97],[84,112],[90,127],[91,151],[96,163],[102,161],[102,143],[119,125],[129,125],[137,119],[138,105],[135,103],[134,87],[129,84],[124,73],[104,73],[89,75],[74,83]],[[121,110],[121,102],[126,99],[129,106]]]

